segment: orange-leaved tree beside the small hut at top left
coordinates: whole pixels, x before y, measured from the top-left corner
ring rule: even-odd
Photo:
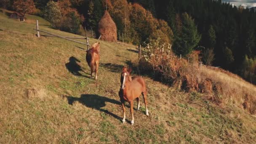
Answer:
[[[14,9],[25,16],[26,13],[33,13],[36,8],[33,0],[15,0]]]

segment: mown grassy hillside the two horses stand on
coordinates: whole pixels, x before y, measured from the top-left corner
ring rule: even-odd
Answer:
[[[0,143],[256,143],[255,115],[149,77],[149,117],[142,104],[134,111],[135,124],[129,123],[128,108],[128,123],[122,124],[120,72],[137,59],[135,46],[100,41],[99,75],[93,80],[85,52],[77,49],[85,46],[37,38],[30,22],[35,19],[40,29],[74,36],[36,16],[23,23],[0,13]]]

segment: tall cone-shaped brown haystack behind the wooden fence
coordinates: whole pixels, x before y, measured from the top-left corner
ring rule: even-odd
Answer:
[[[117,41],[117,27],[107,11],[105,11],[104,16],[102,16],[99,21],[98,30],[101,35],[101,40],[110,42]]]

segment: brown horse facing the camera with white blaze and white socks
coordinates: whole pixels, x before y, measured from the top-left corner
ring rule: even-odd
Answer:
[[[137,109],[139,110],[139,96],[142,95],[144,98],[144,103],[146,107],[146,115],[149,115],[147,109],[147,90],[146,84],[142,77],[130,76],[131,68],[127,70],[126,67],[123,67],[123,71],[121,73],[121,88],[119,91],[120,101],[123,107],[123,123],[125,123],[125,101],[130,103],[131,108],[131,124],[134,124],[134,117],[133,117],[133,100],[137,99],[138,105]]]

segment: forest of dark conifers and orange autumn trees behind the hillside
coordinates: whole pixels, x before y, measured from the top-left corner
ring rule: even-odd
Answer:
[[[13,0],[4,5],[15,10]],[[14,0],[15,1],[15,0]],[[127,43],[160,38],[178,56],[200,51],[204,64],[256,83],[256,12],[221,0],[34,0],[35,14],[52,27],[79,34],[98,32],[106,10]],[[3,4],[2,4],[3,6]],[[49,17],[47,13],[53,14]],[[55,16],[55,17],[54,17]],[[57,19],[57,20],[56,20]],[[80,27],[79,27],[80,26]]]

